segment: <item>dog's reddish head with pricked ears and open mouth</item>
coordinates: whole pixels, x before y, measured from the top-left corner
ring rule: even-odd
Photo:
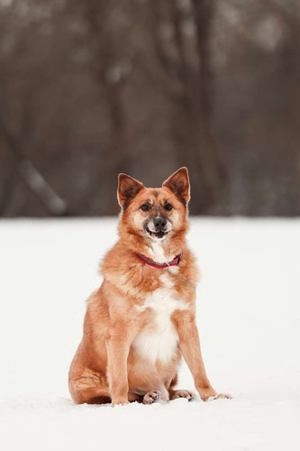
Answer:
[[[190,198],[188,172],[177,170],[161,188],[145,188],[126,174],[119,175],[118,201],[126,234],[139,236],[145,244],[185,235]],[[120,229],[121,231],[121,229]]]

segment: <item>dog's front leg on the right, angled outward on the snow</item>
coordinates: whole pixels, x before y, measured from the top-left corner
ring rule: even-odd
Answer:
[[[230,395],[217,393],[207,378],[194,315],[178,312],[177,317],[175,316],[174,318],[174,322],[177,327],[181,353],[194,377],[195,388],[201,399],[216,400],[219,398],[231,398]]]

